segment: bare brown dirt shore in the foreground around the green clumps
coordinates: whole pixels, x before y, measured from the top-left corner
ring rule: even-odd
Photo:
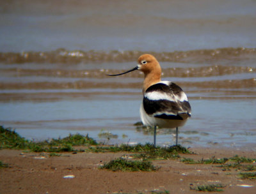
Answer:
[[[196,154],[181,157],[230,158],[236,154],[256,158],[256,153],[231,149],[190,149]],[[154,160],[156,172],[112,172],[99,169],[110,160],[131,153],[26,153],[0,150],[0,193],[202,193],[191,190],[198,184],[225,184],[221,193],[256,193],[256,180],[241,179],[236,169],[223,171],[217,165],[189,165],[180,160]],[[74,178],[63,178],[74,175]],[[251,187],[244,187],[250,185]],[[212,192],[214,193],[214,192]],[[220,192],[217,192],[220,193]]]

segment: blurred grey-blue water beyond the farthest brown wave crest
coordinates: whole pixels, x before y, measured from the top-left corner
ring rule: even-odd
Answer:
[[[255,48],[255,1],[1,1],[1,52]]]

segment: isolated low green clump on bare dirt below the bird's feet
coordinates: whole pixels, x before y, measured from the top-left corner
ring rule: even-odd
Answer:
[[[101,168],[112,171],[156,171],[157,168],[150,161],[129,161],[123,158],[111,160]]]

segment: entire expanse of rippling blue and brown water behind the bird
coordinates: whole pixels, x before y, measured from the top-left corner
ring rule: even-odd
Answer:
[[[256,149],[255,1],[1,4],[1,125],[35,140],[152,142],[152,131],[134,126],[143,75],[106,76],[148,52],[191,103],[180,144]],[[100,136],[108,131],[117,138]],[[174,138],[161,129],[157,144]]]

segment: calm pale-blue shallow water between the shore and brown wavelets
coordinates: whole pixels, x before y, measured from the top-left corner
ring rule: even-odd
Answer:
[[[1,103],[1,123],[12,126],[27,138],[65,137],[68,133],[89,133],[97,140],[102,130],[118,135],[109,143],[152,142],[152,133],[134,123],[140,120],[139,94],[90,94],[87,91],[77,99],[76,95],[62,100],[9,101]],[[90,93],[90,92],[89,92]],[[52,95],[44,93],[42,95]],[[52,95],[52,98],[54,94]],[[61,94],[65,96],[65,94]],[[47,97],[49,98],[49,96]],[[246,146],[255,140],[254,100],[190,100],[193,117],[180,128],[180,143],[186,146]],[[173,144],[174,131],[159,130],[159,144]],[[123,138],[122,135],[127,135]],[[107,141],[107,140],[105,140]]]

